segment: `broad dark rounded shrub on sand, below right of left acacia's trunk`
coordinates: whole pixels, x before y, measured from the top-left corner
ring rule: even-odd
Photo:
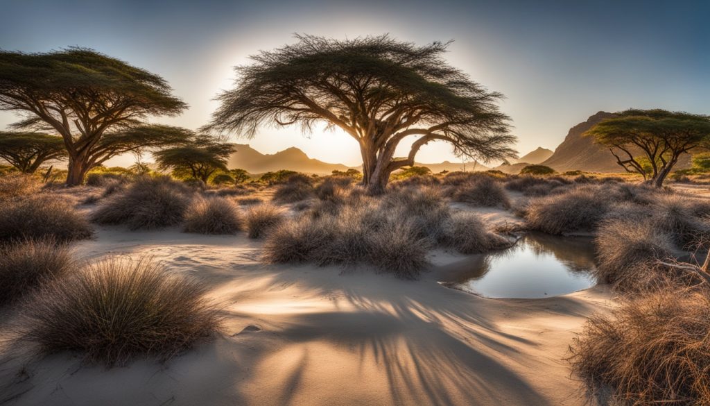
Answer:
[[[167,176],[144,177],[99,206],[92,220],[101,224],[126,224],[131,230],[177,225],[194,193]]]

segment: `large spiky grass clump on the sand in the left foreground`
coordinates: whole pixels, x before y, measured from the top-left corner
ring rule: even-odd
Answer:
[[[21,339],[106,365],[167,359],[219,328],[204,292],[150,260],[105,260],[43,288],[26,306]]]

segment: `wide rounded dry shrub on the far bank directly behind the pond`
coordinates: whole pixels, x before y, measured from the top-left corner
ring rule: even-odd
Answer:
[[[592,232],[608,213],[608,191],[571,188],[564,193],[532,199],[525,209],[528,227],[549,234]]]

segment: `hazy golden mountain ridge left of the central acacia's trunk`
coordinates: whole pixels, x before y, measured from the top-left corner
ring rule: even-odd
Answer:
[[[280,169],[290,171],[329,175],[332,171],[346,171],[343,164],[328,164],[318,159],[309,158],[305,152],[295,146],[278,151],[275,154],[261,154],[248,144],[237,144],[236,152],[231,154],[227,163],[229,169],[241,168],[249,173],[274,172]]]

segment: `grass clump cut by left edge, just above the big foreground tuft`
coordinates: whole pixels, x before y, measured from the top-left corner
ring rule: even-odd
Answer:
[[[0,248],[0,305],[12,303],[73,267],[66,245],[27,240]]]

